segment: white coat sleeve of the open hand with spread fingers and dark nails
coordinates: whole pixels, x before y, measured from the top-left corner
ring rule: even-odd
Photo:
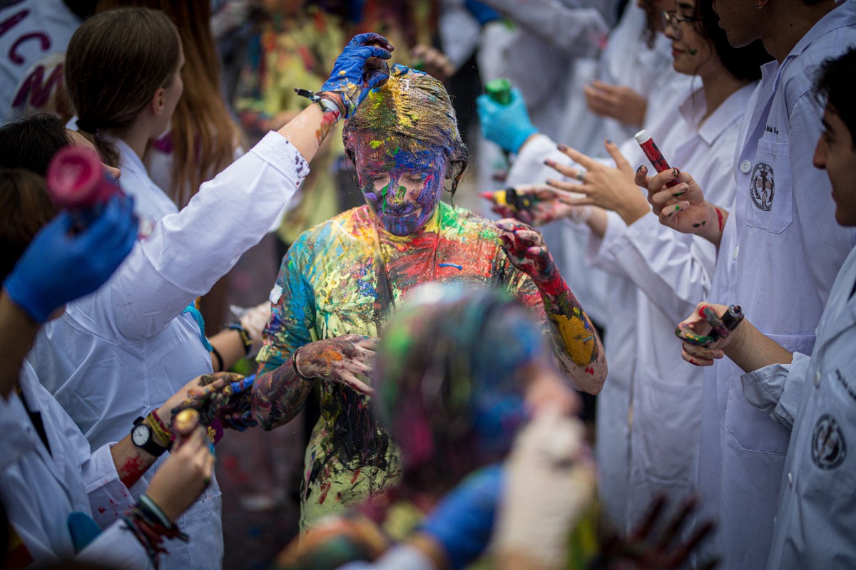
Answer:
[[[658,309],[675,323],[685,319],[710,294],[716,247],[663,226],[653,213],[625,227],[603,249]]]

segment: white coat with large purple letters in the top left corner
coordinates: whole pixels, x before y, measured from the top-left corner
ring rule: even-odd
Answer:
[[[62,53],[80,18],[62,0],[26,0],[0,9],[0,116],[9,114],[17,87],[35,62]],[[21,85],[30,93],[44,85]],[[31,89],[32,87],[32,89]]]

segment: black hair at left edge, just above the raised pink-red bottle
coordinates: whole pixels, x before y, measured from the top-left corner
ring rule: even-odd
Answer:
[[[0,168],[26,168],[45,176],[57,150],[72,144],[55,115],[33,115],[0,126]]]

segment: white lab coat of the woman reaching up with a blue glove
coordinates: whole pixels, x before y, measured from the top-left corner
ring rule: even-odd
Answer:
[[[269,133],[164,216],[107,284],[39,332],[27,359],[92,446],[124,437],[136,417],[211,373],[199,326],[181,311],[258,243],[308,172],[294,146]],[[191,542],[170,549],[163,567],[219,567],[220,502],[215,481],[178,520]]]

